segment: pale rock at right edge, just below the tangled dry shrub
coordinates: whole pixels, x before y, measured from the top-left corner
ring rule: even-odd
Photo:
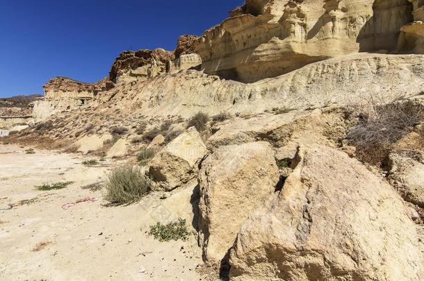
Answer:
[[[396,151],[389,155],[388,180],[405,201],[424,207],[424,155],[419,151]]]

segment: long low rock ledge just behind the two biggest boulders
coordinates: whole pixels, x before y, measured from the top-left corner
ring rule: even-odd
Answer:
[[[210,149],[227,144],[243,144],[266,140],[274,146],[298,144],[326,144],[344,137],[345,124],[341,112],[323,110],[291,111],[250,119],[238,119],[220,127],[207,142]]]

